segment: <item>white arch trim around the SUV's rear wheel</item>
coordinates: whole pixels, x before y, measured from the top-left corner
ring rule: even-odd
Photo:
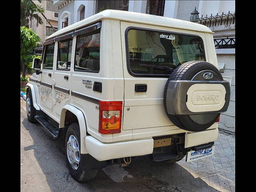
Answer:
[[[80,128],[80,147],[81,147],[81,154],[88,154],[85,146],[85,137],[86,137],[86,117],[84,116],[83,112],[76,108],[75,106],[72,106],[70,104],[65,105],[60,114],[60,126],[59,128],[65,127],[65,121],[66,121],[66,113],[71,112],[76,116],[79,128]]]

